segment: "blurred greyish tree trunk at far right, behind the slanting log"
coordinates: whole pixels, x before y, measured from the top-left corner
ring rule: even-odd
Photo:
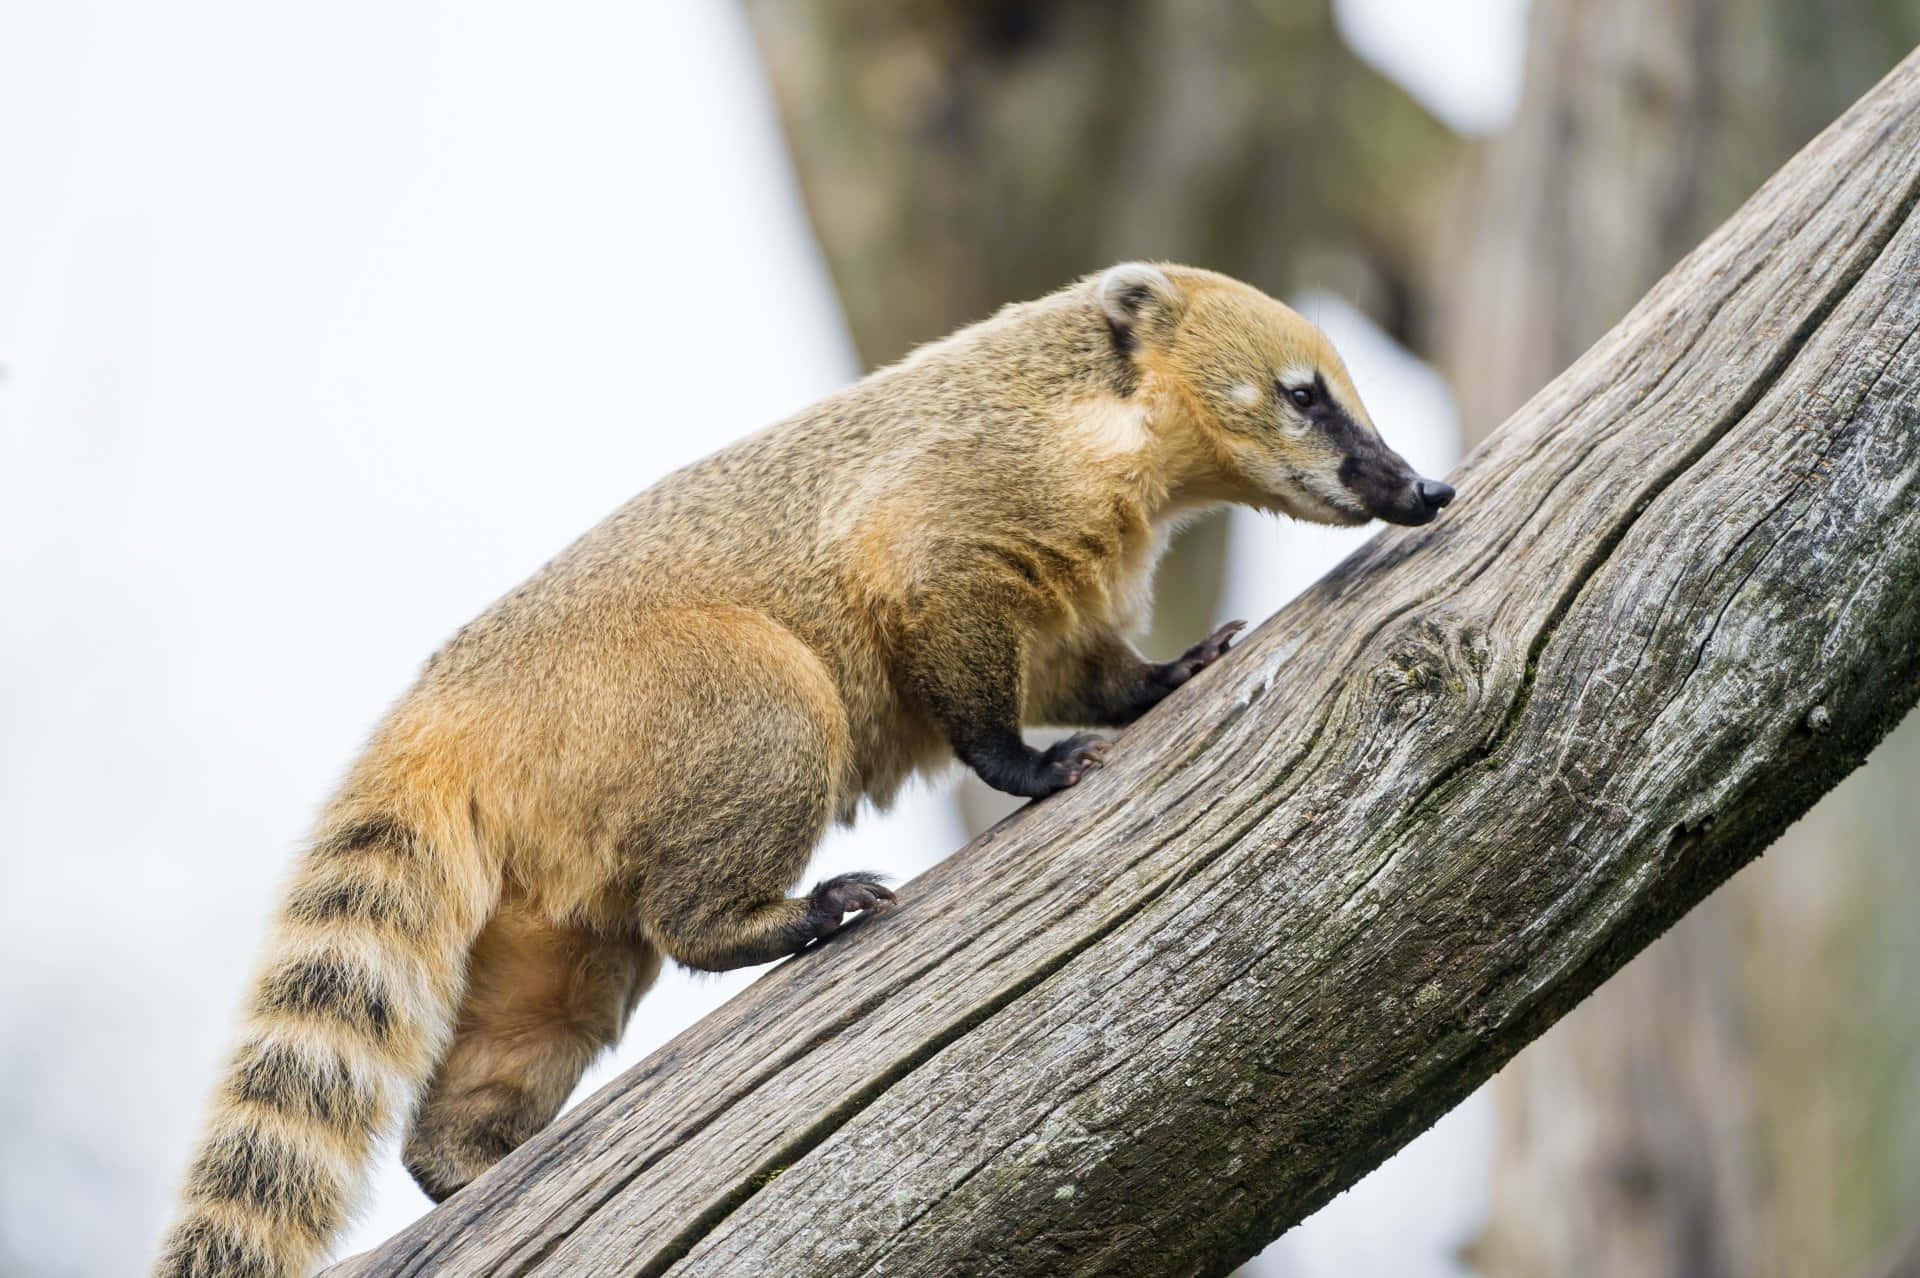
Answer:
[[[1490,428],[1920,40],[1914,0],[1536,0],[1442,361]],[[1496,1082],[1490,1278],[1849,1274],[1920,1215],[1920,723]]]

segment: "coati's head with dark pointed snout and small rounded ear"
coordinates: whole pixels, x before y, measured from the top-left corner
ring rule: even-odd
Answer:
[[[1094,280],[1114,342],[1187,401],[1217,493],[1317,524],[1427,524],[1453,489],[1380,439],[1327,336],[1212,271],[1121,263]]]

